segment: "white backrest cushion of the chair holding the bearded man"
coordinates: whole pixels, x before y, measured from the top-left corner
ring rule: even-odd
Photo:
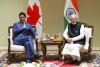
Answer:
[[[85,41],[84,49],[88,50],[89,39],[90,39],[90,37],[92,37],[92,28],[85,27],[85,37],[86,37],[86,41]]]

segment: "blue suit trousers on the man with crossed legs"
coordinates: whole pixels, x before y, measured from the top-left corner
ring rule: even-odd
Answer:
[[[30,52],[32,51],[34,55],[37,54],[36,49],[34,48],[33,40],[31,36],[24,36],[19,39],[19,44],[23,44],[25,47],[26,58],[30,58]]]

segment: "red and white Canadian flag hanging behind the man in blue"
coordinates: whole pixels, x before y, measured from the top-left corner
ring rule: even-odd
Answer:
[[[42,36],[42,12],[39,0],[28,0],[27,23],[36,26],[37,34]]]

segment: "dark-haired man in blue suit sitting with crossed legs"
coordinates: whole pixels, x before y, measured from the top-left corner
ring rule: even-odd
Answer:
[[[33,29],[31,24],[28,24],[25,22],[26,20],[26,14],[24,12],[21,12],[19,14],[19,22],[14,23],[13,25],[13,35],[14,35],[14,44],[16,45],[23,45],[25,47],[26,51],[26,63],[30,62],[30,52],[32,51],[34,54],[34,57],[36,59],[42,57],[39,55],[34,48],[34,43],[32,41],[30,33],[35,36],[36,39],[38,39],[38,35]]]

